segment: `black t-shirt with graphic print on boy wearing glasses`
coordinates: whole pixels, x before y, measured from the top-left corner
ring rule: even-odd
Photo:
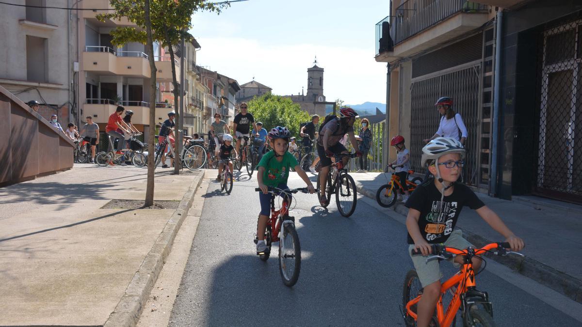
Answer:
[[[420,233],[428,243],[437,244],[444,243],[449,238],[463,207],[476,210],[485,204],[464,184],[455,184],[453,193],[445,196],[441,202],[441,192],[437,190],[434,179],[428,179],[410,194],[404,205],[420,211],[418,218]],[[414,244],[410,234],[408,244]]]

